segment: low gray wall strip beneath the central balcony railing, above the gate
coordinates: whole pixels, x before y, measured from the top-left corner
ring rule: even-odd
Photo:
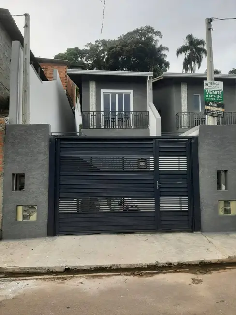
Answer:
[[[150,136],[149,129],[82,129],[88,137],[146,137]]]

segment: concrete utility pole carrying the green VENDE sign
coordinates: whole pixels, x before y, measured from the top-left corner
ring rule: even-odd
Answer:
[[[207,48],[207,81],[214,81],[214,63],[211,36],[212,18],[206,18],[206,48]],[[216,117],[207,116],[207,125],[216,125]]]

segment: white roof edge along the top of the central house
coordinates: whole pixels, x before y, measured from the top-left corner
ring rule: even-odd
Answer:
[[[83,70],[67,69],[67,74],[85,74],[85,75],[105,75],[105,76],[133,76],[133,77],[152,77],[153,72],[136,71],[109,71],[109,70]]]

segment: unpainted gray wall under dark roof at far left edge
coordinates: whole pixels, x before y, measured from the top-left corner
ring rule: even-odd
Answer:
[[[12,40],[0,23],[0,109],[8,110]]]

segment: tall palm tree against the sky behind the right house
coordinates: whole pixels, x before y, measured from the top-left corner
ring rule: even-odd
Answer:
[[[205,45],[204,39],[196,38],[192,34],[186,36],[185,43],[176,51],[177,57],[184,54],[183,72],[195,73],[196,67],[201,67],[203,57],[207,56]]]

